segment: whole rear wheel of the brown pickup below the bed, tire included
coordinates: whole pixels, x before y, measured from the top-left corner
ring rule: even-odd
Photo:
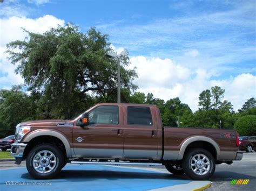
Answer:
[[[192,180],[208,180],[213,175],[215,171],[215,159],[204,148],[192,148],[184,156],[183,169],[186,175]],[[206,157],[205,160],[203,160],[204,156]]]

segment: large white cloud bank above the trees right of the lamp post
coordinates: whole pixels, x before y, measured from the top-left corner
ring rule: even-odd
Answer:
[[[131,58],[131,66],[137,67],[138,79],[134,83],[138,91],[153,93],[154,97],[165,101],[179,97],[181,102],[188,104],[193,111],[198,109],[198,96],[201,91],[220,86],[225,89],[225,99],[238,110],[248,98],[256,95],[256,76],[240,74],[226,80],[211,80],[214,70],[202,68],[192,72],[190,69],[173,63],[170,59],[136,56]]]

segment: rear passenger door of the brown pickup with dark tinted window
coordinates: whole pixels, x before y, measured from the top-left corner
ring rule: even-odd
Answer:
[[[156,109],[124,105],[124,159],[157,159]]]

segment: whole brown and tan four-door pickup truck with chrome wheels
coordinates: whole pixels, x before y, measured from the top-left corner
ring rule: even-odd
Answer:
[[[215,164],[241,160],[237,132],[163,127],[156,105],[97,104],[71,121],[17,125],[11,155],[26,160],[37,179],[56,176],[71,164],[165,165],[193,180],[210,178]]]

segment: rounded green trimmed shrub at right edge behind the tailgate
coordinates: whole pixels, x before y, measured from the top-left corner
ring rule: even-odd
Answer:
[[[240,117],[234,124],[239,136],[256,136],[256,116],[246,115]]]

